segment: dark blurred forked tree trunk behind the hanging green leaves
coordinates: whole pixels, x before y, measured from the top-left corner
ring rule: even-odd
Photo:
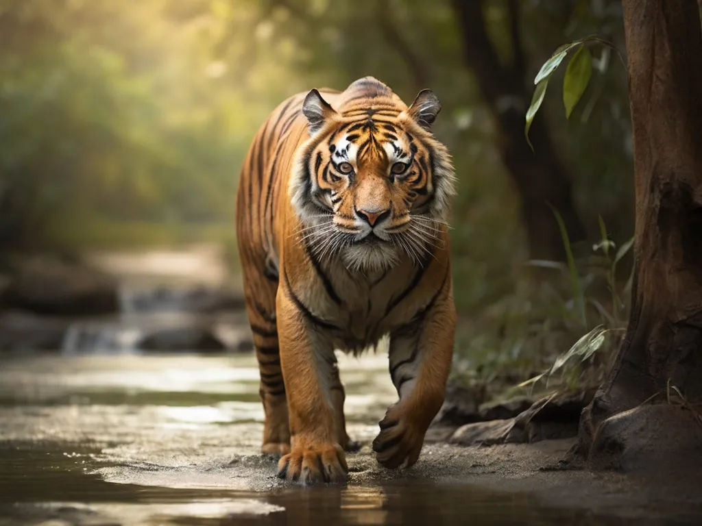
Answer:
[[[529,130],[536,155],[524,139],[524,113],[531,91],[527,90],[524,50],[519,38],[519,5],[517,1],[508,2],[511,65],[501,63],[486,32],[482,7],[478,0],[453,0],[465,62],[475,74],[480,93],[497,123],[502,161],[522,198],[530,255],[564,260],[564,246],[549,205],[563,217],[571,242],[582,241],[587,235],[576,212],[568,175],[541,117],[534,119]]]

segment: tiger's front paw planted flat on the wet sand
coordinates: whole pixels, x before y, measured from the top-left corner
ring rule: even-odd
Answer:
[[[344,483],[349,468],[340,445],[319,443],[295,445],[278,461],[278,477],[303,485]]]

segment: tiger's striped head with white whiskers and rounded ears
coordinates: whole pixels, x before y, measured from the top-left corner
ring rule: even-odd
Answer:
[[[449,152],[430,131],[441,104],[422,90],[407,107],[372,77],[338,95],[317,90],[303,114],[310,138],[298,151],[290,194],[300,241],[349,269],[383,269],[404,254],[420,263],[439,245],[455,193]]]

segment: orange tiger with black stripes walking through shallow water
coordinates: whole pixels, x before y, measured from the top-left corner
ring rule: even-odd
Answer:
[[[398,400],[373,440],[386,468],[418,460],[451,369],[456,309],[449,213],[456,176],[431,131],[441,104],[408,107],[367,76],[284,100],[239,175],[236,231],[260,370],[263,454],[277,476],[344,483],[346,432],[335,350],[390,338]]]

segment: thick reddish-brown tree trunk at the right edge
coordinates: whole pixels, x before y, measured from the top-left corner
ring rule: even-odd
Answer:
[[[608,467],[616,466],[615,457],[621,460],[628,447],[616,436],[621,426],[612,422],[635,418],[640,406],[655,400],[657,393],[663,400],[677,393],[673,387],[687,400],[682,405],[702,399],[698,4],[623,0],[623,8],[636,196],[632,311],[609,379],[583,412],[581,443],[575,451],[592,466]],[[675,410],[666,407],[680,412],[680,404]],[[623,414],[632,408],[637,410]],[[701,431],[696,429],[697,435]]]

